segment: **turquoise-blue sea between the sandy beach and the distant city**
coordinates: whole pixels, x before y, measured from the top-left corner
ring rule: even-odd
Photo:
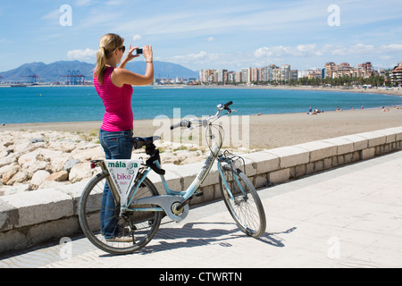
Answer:
[[[269,88],[134,87],[135,120],[205,116],[232,101],[239,115],[306,113],[402,105],[402,97]],[[0,124],[101,121],[105,107],[93,86],[0,88]]]

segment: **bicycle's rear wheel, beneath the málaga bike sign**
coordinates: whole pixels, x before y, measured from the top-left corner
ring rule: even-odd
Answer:
[[[88,182],[80,198],[79,218],[81,229],[97,248],[115,255],[130,254],[144,248],[151,241],[159,228],[161,212],[126,211],[120,215],[120,205],[114,204],[113,220],[116,232],[120,232],[120,241],[106,240],[101,233],[101,206],[108,172],[101,172]],[[154,184],[147,178],[138,188],[134,199],[157,196]],[[141,206],[141,207],[151,207]]]

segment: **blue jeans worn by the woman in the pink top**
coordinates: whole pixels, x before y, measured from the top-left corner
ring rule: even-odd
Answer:
[[[108,132],[99,131],[99,141],[105,151],[105,159],[130,159],[132,152],[132,130]],[[113,192],[107,182],[102,196],[100,214],[101,233],[105,239],[113,239],[118,235],[118,215],[115,214]]]

